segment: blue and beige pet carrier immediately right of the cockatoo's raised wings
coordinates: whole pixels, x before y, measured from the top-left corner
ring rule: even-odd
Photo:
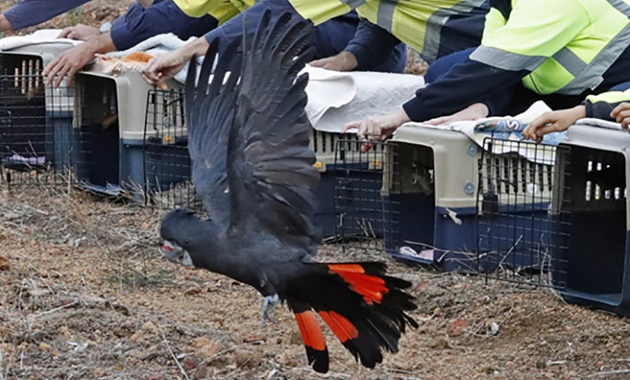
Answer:
[[[315,224],[323,236],[382,237],[383,205],[380,195],[384,144],[368,153],[354,134],[313,129],[311,148],[321,172],[315,189],[318,207]]]

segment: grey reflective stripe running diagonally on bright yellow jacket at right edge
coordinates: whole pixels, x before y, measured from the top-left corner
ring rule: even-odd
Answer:
[[[630,9],[630,8],[629,8]],[[619,32],[606,47],[587,65],[585,70],[576,76],[569,84],[561,88],[558,93],[575,95],[590,88],[594,90],[604,80],[604,73],[630,46],[630,25]]]

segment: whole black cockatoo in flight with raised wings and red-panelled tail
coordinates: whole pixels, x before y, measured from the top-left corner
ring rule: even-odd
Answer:
[[[313,261],[320,239],[311,189],[319,172],[304,110],[308,77],[298,77],[313,57],[312,28],[289,14],[272,20],[267,11],[242,41],[210,44],[197,86],[190,65],[188,149],[210,218],[171,211],[160,227],[162,251],[253,286],[265,310],[286,301],[317,372],[328,371],[329,359],[316,314],[373,368],[382,350],[398,350],[407,325],[418,326],[406,314],[416,305],[401,290],[411,284],[386,275],[383,263]]]

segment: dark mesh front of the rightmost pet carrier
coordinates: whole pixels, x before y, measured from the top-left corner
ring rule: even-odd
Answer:
[[[566,157],[566,201],[556,212],[568,229],[564,289],[619,304],[628,265],[625,156],[571,146]]]

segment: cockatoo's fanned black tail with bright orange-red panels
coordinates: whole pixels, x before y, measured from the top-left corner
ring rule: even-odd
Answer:
[[[382,263],[310,263],[287,284],[286,299],[295,313],[313,369],[326,372],[329,359],[313,310],[352,355],[368,368],[383,361],[382,351],[397,352],[405,327],[417,323],[405,311],[416,305],[403,291],[411,283],[386,274]]]

